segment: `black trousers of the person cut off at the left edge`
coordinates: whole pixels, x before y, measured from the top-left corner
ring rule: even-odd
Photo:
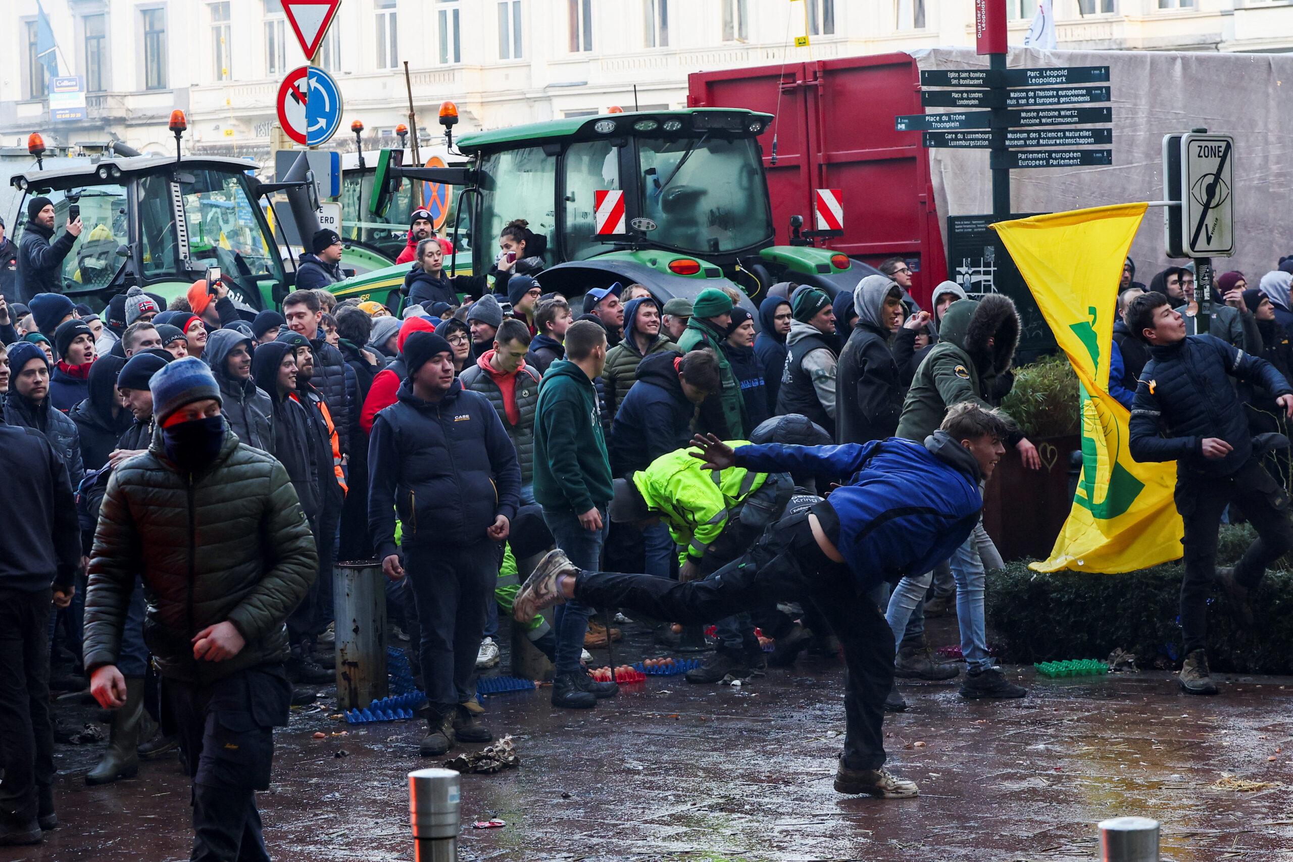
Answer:
[[[0,818],[25,827],[54,779],[49,715],[49,610],[53,591],[0,589]]]

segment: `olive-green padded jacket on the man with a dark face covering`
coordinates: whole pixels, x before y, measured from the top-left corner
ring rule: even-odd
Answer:
[[[209,684],[288,658],[283,622],[318,571],[314,538],[273,455],[225,423],[206,472],[181,474],[162,432],[118,464],[98,510],[85,592],[87,671],[114,664],[134,579],[144,576],[144,640],[162,676]],[[193,636],[230,622],[246,640],[224,662],[193,658]]]

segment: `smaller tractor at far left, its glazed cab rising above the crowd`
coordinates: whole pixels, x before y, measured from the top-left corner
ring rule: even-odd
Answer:
[[[294,246],[317,227],[314,184],[261,182],[257,168],[212,156],[62,159],[48,171],[13,173],[3,215],[17,238],[31,196],[53,202],[58,230],[69,208],[79,208],[84,229],[63,260],[63,292],[75,302],[102,309],[133,284],[169,300],[219,266],[230,299],[250,317],[287,296]],[[343,266],[359,269],[356,253],[347,249]],[[387,262],[374,257],[371,265]],[[387,301],[384,291],[370,292]]]

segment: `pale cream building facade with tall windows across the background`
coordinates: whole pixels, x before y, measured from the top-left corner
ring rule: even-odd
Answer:
[[[1010,41],[1021,44],[1036,0],[1005,3]],[[172,152],[167,120],[181,109],[186,149],[264,162],[278,85],[305,63],[282,0],[0,5],[4,145],[39,131],[50,143]],[[1293,50],[1293,0],[1054,6],[1062,50]],[[315,61],[340,83],[343,128],[361,120],[369,149],[409,123],[410,89],[425,141],[440,137],[446,100],[459,133],[612,106],[680,107],[689,72],[970,45],[972,19],[972,0],[343,0]],[[83,119],[50,119],[56,72],[80,79]],[[343,131],[328,146],[353,149],[354,138]]]

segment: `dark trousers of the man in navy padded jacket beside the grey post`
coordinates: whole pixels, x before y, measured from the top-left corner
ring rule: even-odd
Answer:
[[[436,707],[476,697],[476,655],[485,607],[494,604],[498,545],[405,545],[405,571],[418,606],[419,664]]]

